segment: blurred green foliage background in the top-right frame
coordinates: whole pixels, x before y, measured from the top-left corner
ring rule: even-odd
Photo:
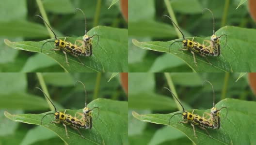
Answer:
[[[245,1],[238,7],[240,1]],[[177,39],[177,33],[166,5],[170,4],[177,23],[185,37],[208,37],[212,35],[212,11],[215,31],[224,26],[256,28],[255,0],[129,0],[128,4],[128,66],[129,72],[192,72],[181,59],[173,55],[148,51],[135,46],[131,41],[163,41]],[[248,4],[249,2],[249,4]],[[250,8],[248,8],[248,5]],[[254,17],[253,21],[250,16]]]

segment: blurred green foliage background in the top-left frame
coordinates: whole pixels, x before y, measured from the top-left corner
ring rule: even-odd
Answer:
[[[49,38],[45,24],[35,17],[35,14],[41,15],[38,1],[43,3],[58,37],[84,35],[84,18],[79,11],[74,14],[76,8],[85,13],[87,31],[98,25],[128,28],[119,1],[110,7],[113,0],[0,0],[0,72],[64,72],[56,61],[45,55],[15,50],[3,42],[4,39],[19,42]],[[38,59],[44,60],[44,65],[34,65]]]

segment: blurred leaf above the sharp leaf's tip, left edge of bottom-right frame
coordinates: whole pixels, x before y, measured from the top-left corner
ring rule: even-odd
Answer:
[[[138,93],[129,95],[129,108],[170,110],[175,109],[176,104],[170,97],[155,93]]]

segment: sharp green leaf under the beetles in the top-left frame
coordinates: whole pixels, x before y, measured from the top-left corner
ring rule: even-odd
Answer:
[[[99,35],[99,43],[93,48],[92,57],[80,57],[85,66],[82,66],[77,58],[67,54],[69,66],[66,64],[65,55],[62,51],[55,52],[53,43],[44,46],[43,54],[55,59],[66,72],[127,72],[128,70],[128,30],[98,26],[91,29],[88,35]],[[62,38],[64,39],[64,38]],[[74,43],[79,38],[67,38],[67,41]],[[52,39],[50,39],[52,40]],[[46,41],[41,42],[4,42],[12,48],[40,52],[41,46]],[[93,39],[93,46],[96,46],[97,39]],[[39,60],[38,60],[39,61]]]

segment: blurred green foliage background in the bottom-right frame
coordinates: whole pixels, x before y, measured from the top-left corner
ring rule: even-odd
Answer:
[[[205,80],[214,87],[215,104],[225,98],[256,101],[253,93],[256,92],[256,73],[129,73],[129,145],[192,145],[182,132],[170,126],[140,121],[131,113],[169,114],[178,111],[172,94],[163,89],[169,88],[167,82],[174,84],[185,109],[210,109],[213,92],[208,83],[202,85]]]

